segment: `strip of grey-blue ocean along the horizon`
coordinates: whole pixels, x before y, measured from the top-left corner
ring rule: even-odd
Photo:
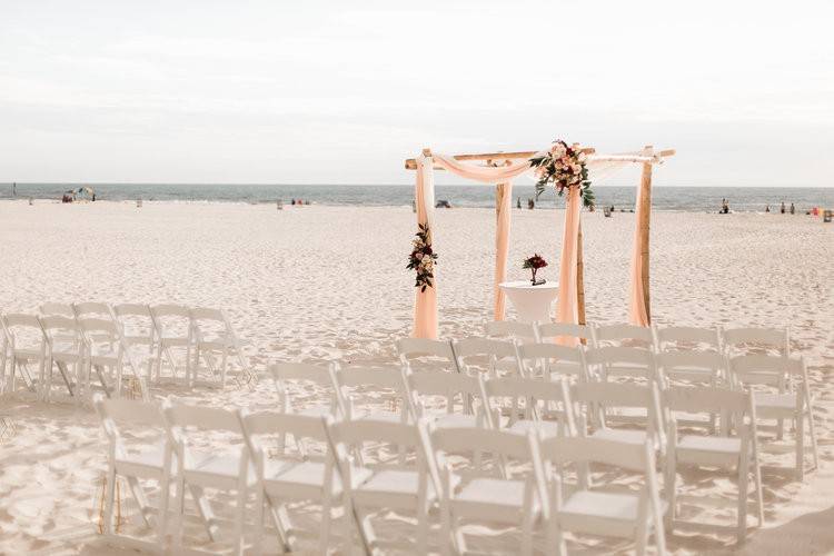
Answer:
[[[409,206],[414,198],[413,186],[329,186],[329,185],[186,185],[186,183],[17,183],[17,198],[60,200],[64,191],[82,186],[92,187],[97,200],[132,201],[214,201],[274,203],[281,199],[304,199],[317,205]],[[594,188],[597,206],[614,206],[617,210],[631,209],[635,201],[635,187],[598,186]],[[520,198],[534,198],[533,186],[514,185],[513,205]],[[12,183],[0,183],[0,199],[11,199]],[[436,186],[435,198],[449,201],[453,207],[495,206],[494,187],[481,185]],[[673,187],[657,186],[652,191],[655,210],[715,212],[726,198],[733,211],[761,212],[770,205],[778,210],[781,202],[793,202],[797,211],[812,207],[834,209],[834,188],[772,188],[772,187]],[[536,202],[538,208],[563,206],[552,190]]]

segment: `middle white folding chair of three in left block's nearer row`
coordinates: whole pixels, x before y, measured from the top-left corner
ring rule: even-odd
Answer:
[[[52,398],[52,375],[58,367],[63,384],[71,398],[78,404],[81,400],[78,386],[85,380],[86,349],[81,327],[75,317],[42,316],[38,317],[43,336],[47,339],[47,366],[42,398]]]

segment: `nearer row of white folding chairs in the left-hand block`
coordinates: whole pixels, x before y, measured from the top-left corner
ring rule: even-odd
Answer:
[[[0,389],[4,393],[17,393],[20,379],[37,398],[50,401],[54,387],[62,384],[68,396],[81,403],[90,399],[97,378],[108,397],[119,397],[127,366],[136,394],[148,398],[139,366],[112,320],[10,314],[0,316]],[[56,369],[60,380],[54,379]]]

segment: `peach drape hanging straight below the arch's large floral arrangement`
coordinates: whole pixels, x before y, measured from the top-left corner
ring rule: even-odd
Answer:
[[[576,292],[576,256],[579,238],[579,210],[582,198],[575,189],[568,189],[565,207],[565,230],[562,234],[562,260],[559,261],[559,298],[556,320],[576,325],[579,321],[578,296]],[[576,338],[560,337],[558,344],[575,346]]]

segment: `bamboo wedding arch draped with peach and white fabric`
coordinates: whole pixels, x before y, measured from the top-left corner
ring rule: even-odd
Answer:
[[[673,149],[655,151],[652,146],[636,152],[597,155],[595,149],[573,148],[584,153],[589,177],[597,180],[626,165],[642,165],[637,188],[636,227],[632,252],[629,320],[648,326],[652,321],[648,290],[648,237],[652,214],[652,167],[675,153]],[[441,155],[423,149],[417,158],[406,160],[406,169],[416,170],[415,203],[417,222],[425,230],[428,245],[434,239],[435,182],[434,170],[447,170],[461,178],[495,183],[495,320],[504,320],[506,300],[498,285],[506,280],[509,254],[509,228],[513,179],[530,171],[532,158],[546,151],[486,152],[477,155]],[[556,319],[559,322],[585,322],[585,291],[582,256],[582,202],[578,190],[567,189],[565,225],[559,258],[559,291]],[[414,330],[418,338],[437,337],[436,282],[415,288]]]

